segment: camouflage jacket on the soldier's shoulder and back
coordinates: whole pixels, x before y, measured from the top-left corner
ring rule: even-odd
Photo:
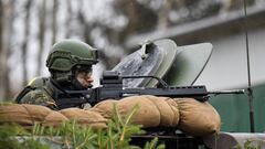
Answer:
[[[56,103],[53,99],[54,89],[56,88],[52,85],[51,78],[36,77],[18,94],[15,102],[19,104],[42,105],[51,109],[57,109]]]

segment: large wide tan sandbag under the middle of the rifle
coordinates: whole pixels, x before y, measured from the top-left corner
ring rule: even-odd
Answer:
[[[159,109],[156,104],[149,100],[146,96],[125,97],[120,100],[103,100],[96,104],[91,110],[97,111],[105,118],[110,119],[114,111],[114,104],[116,104],[116,107],[123,117],[125,117],[134,106],[139,106],[131,119],[132,124],[142,125],[144,127],[156,127],[160,124]]]

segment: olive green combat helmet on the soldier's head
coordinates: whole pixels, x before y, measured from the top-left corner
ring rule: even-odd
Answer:
[[[97,62],[96,49],[84,42],[64,40],[52,46],[46,66],[50,71],[67,72],[75,65],[93,65]]]

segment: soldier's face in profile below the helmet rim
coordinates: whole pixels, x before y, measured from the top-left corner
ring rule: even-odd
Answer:
[[[88,88],[93,83],[92,72],[77,72],[76,79],[85,88]]]

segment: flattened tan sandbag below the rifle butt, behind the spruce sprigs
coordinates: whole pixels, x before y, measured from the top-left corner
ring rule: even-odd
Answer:
[[[91,125],[93,128],[107,127],[107,119],[95,111],[84,110],[80,108],[66,108],[60,110],[60,113],[68,119],[75,119],[78,124]]]

